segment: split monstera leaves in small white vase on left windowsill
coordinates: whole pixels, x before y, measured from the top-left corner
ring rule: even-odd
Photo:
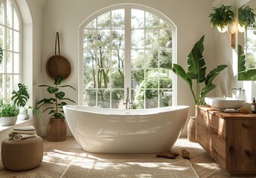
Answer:
[[[27,86],[24,84],[18,84],[19,90],[13,90],[12,101],[18,107],[24,107],[27,103],[27,100],[30,98],[30,95],[27,91]]]

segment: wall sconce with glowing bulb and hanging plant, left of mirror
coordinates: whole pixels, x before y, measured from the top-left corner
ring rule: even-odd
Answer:
[[[235,33],[231,33],[228,29],[229,24],[234,23],[233,7],[229,5],[221,5],[220,7],[213,7],[213,12],[209,14],[211,17],[211,27],[217,28],[220,33],[228,32],[231,38],[231,47],[235,47]]]

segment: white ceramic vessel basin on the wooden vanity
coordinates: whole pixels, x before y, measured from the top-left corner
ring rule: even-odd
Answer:
[[[211,108],[224,109],[238,109],[246,104],[244,99],[235,99],[231,97],[206,97],[205,102]]]

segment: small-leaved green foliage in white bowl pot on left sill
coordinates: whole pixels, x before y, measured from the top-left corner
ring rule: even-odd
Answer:
[[[1,117],[18,116],[18,114],[19,114],[19,108],[16,105],[5,103],[0,107]]]

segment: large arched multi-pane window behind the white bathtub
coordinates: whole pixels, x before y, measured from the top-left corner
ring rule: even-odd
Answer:
[[[109,7],[85,20],[80,27],[80,104],[125,108],[124,103],[132,102],[134,109],[172,105],[174,31],[162,13],[134,4]]]

